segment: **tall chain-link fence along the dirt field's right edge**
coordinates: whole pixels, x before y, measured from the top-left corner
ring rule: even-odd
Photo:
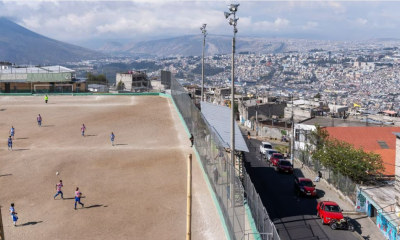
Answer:
[[[246,215],[239,169],[232,166],[230,153],[225,151],[218,133],[209,126],[188,93],[175,78],[171,80],[171,96],[186,126],[194,136],[194,146],[221,207],[231,239],[243,239]],[[231,199],[230,191],[234,191],[234,199]]]

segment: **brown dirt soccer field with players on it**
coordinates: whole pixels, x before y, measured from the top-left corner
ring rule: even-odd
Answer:
[[[12,152],[7,150],[11,126]],[[7,240],[185,239],[187,155],[195,155],[168,98],[50,96],[45,104],[42,96],[4,96],[0,133]],[[60,179],[65,199],[54,200]],[[76,187],[85,205],[74,210]],[[195,158],[193,187],[192,239],[225,239]],[[17,227],[8,211],[12,202]]]

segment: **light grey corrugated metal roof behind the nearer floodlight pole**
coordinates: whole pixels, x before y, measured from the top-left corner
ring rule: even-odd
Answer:
[[[211,127],[217,131],[224,146],[231,148],[231,109],[225,106],[201,102],[201,113]],[[237,124],[235,124],[235,149],[249,152]]]

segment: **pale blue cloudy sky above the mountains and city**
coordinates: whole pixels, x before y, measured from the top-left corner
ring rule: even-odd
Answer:
[[[108,41],[232,35],[230,1],[0,1],[0,17],[56,40],[96,48]],[[400,38],[400,2],[240,1],[237,37],[325,40]]]

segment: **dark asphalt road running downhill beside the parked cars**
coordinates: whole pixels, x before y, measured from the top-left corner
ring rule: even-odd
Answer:
[[[357,233],[333,231],[316,216],[318,199],[298,197],[293,189],[294,177],[280,174],[265,161],[260,161],[258,140],[251,139],[251,152],[245,167],[254,186],[275,223],[281,240],[359,240]],[[256,152],[255,152],[256,151]],[[295,174],[302,176],[299,169]],[[319,191],[319,197],[325,193]]]

